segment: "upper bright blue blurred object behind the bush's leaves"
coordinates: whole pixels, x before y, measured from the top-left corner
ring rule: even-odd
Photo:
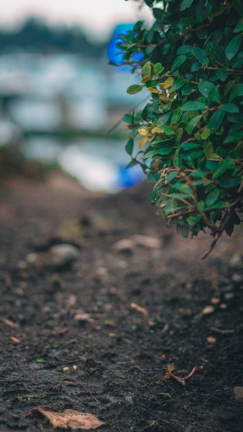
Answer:
[[[128,30],[133,30],[135,23],[130,24],[118,24],[114,30],[113,38],[108,45],[107,54],[110,62],[115,63],[116,66],[120,66],[123,62],[123,54],[121,53],[121,49],[117,47],[117,44],[121,42],[121,39],[118,38],[118,35],[124,35]],[[143,58],[144,54],[137,53],[133,54],[132,58],[135,58],[137,62],[139,62]]]

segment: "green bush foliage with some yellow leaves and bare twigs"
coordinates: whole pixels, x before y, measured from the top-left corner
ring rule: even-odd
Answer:
[[[141,69],[141,85],[127,92],[150,93],[123,118],[129,165],[155,183],[152,203],[184,237],[210,229],[207,256],[243,210],[243,3],[140,2],[152,9],[152,27],[138,21],[118,43],[123,64]]]

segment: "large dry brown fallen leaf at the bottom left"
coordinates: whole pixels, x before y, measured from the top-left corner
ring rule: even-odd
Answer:
[[[99,420],[92,414],[80,413],[74,410],[56,411],[54,408],[47,406],[39,406],[27,411],[23,416],[31,414],[33,411],[38,411],[44,415],[52,423],[54,428],[72,428],[72,429],[96,429],[104,425],[104,422]]]

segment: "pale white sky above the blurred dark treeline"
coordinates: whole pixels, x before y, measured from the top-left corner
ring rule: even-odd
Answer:
[[[132,0],[7,0],[0,6],[0,25],[13,24],[37,15],[50,21],[78,23],[91,33],[108,34],[119,22],[135,22],[150,16],[149,8],[138,10]]]

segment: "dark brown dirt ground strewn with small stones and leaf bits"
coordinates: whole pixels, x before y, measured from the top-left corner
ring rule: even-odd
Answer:
[[[102,432],[243,431],[242,231],[201,261],[209,236],[168,229],[150,189],[90,193],[58,171],[1,179],[1,432],[52,431],[23,417],[42,405],[96,415]],[[60,243],[71,264],[56,261]],[[164,378],[171,363],[196,371],[182,385]]]

